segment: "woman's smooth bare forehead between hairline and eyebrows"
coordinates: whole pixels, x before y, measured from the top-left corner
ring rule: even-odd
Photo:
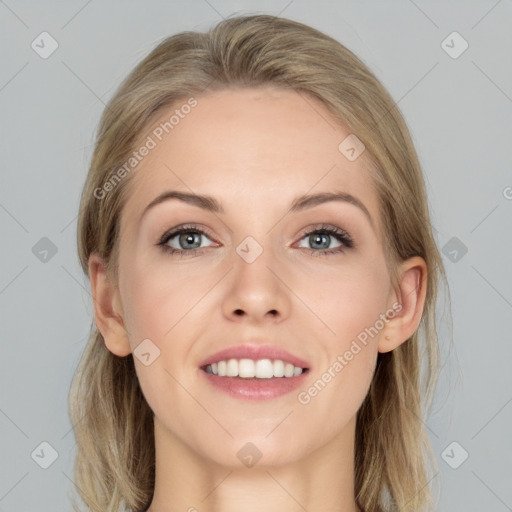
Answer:
[[[195,101],[175,103],[151,124],[145,136],[154,147],[133,173],[126,216],[140,215],[167,189],[216,196],[227,213],[335,190],[359,197],[377,218],[366,155],[351,161],[340,151],[353,135],[320,101],[272,87]]]

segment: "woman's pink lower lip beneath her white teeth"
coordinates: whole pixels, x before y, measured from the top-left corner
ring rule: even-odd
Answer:
[[[295,377],[272,377],[271,379],[244,379],[241,377],[219,377],[201,370],[208,382],[233,398],[244,400],[270,400],[297,389],[308,372]]]

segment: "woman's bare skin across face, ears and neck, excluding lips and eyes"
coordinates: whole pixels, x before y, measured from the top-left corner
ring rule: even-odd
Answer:
[[[356,511],[356,413],[378,352],[393,350],[419,325],[425,262],[403,262],[399,286],[392,286],[366,155],[351,162],[340,153],[350,132],[323,104],[272,87],[222,90],[197,100],[130,177],[119,282],[109,280],[97,255],[89,261],[96,324],[108,350],[124,357],[144,339],[160,350],[149,366],[134,357],[155,415],[149,510]],[[144,208],[169,189],[214,196],[225,212],[174,199],[140,221]],[[372,222],[342,201],[288,211],[302,194],[334,190],[357,197]],[[160,237],[183,223],[211,233],[200,238],[202,252],[163,252]],[[319,254],[304,235],[318,224],[347,231],[355,247]],[[263,248],[252,263],[236,252],[247,236]],[[180,248],[178,242],[168,245]],[[334,237],[327,243],[340,245]],[[308,404],[299,403],[298,392],[397,301],[401,311],[379,334]],[[201,375],[201,360],[251,337],[306,360],[304,386],[268,401],[213,388]],[[247,442],[262,454],[252,468],[237,457]]]

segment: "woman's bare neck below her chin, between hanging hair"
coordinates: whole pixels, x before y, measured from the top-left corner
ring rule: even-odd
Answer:
[[[357,512],[355,421],[285,466],[221,466],[177,440],[155,418],[156,481],[147,512]]]

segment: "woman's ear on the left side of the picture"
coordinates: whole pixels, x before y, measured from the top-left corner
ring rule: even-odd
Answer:
[[[116,356],[127,356],[131,353],[131,348],[124,325],[119,290],[107,276],[105,263],[99,254],[91,254],[88,267],[96,326],[110,352]]]

